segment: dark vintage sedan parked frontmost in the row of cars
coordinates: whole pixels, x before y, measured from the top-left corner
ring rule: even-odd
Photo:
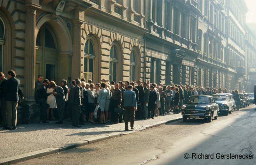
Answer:
[[[219,106],[212,96],[193,95],[189,97],[187,104],[181,106],[181,115],[184,122],[187,118],[204,118],[207,122],[212,122],[212,117],[218,119]]]

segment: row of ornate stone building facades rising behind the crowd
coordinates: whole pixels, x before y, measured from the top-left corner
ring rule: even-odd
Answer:
[[[39,113],[37,75],[251,91],[247,11],[244,0],[4,0],[0,69],[20,79],[23,118]]]

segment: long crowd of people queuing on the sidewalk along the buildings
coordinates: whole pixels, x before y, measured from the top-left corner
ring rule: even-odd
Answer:
[[[15,72],[8,72],[9,79],[0,73],[0,100],[2,123],[4,129],[16,129],[17,107],[19,97],[23,98],[20,81],[15,78]],[[54,80],[43,80],[38,75],[35,83],[35,100],[41,107],[42,123],[55,120],[54,109],[58,112],[56,124],[63,124],[65,118],[70,118],[72,126],[81,127],[91,122],[113,124],[125,122],[125,131],[128,131],[128,122],[134,129],[134,121],[140,119],[154,119],[167,113],[179,114],[181,106],[188,102],[189,96],[204,94],[228,93],[227,89],[207,88],[192,85],[164,85],[138,81],[92,83],[84,78],[72,81],[69,90],[67,80],[61,80],[61,86]],[[238,91],[232,91],[236,100],[237,109],[242,105]],[[50,118],[51,116],[51,118]]]

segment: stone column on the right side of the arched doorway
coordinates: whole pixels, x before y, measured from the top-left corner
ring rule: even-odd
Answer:
[[[73,56],[72,56],[72,80],[81,78],[81,22],[79,19],[73,20],[74,40],[73,40]]]

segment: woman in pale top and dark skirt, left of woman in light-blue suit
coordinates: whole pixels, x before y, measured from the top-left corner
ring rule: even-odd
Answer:
[[[98,95],[96,94],[94,90],[94,84],[90,84],[89,86],[90,90],[88,90],[88,110],[89,110],[89,119],[88,121],[91,123],[95,123],[93,121],[93,112],[95,109],[94,102],[97,100]]]

